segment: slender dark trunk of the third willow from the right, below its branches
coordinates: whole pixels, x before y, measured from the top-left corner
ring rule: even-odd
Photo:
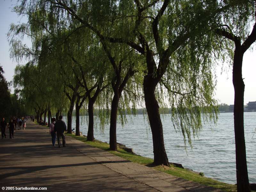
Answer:
[[[114,93],[114,97],[111,103],[111,113],[110,113],[110,128],[109,128],[109,148],[110,150],[117,151],[116,145],[116,119],[117,119],[117,109],[119,102],[118,92]]]

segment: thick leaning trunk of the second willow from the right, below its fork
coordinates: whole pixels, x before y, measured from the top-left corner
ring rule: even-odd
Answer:
[[[153,138],[154,164],[169,166],[168,157],[164,148],[164,134],[159,114],[159,105],[155,96],[157,83],[158,82],[152,78],[152,75],[144,76],[143,90],[145,105]]]

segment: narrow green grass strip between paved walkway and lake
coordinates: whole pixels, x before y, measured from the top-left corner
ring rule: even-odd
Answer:
[[[219,188],[223,191],[227,191],[227,192],[236,192],[236,185],[231,185],[231,184],[227,184],[227,183],[223,183],[211,178],[207,178],[207,177],[202,177],[199,174],[189,171],[187,169],[182,169],[176,166],[171,165],[170,167],[168,166],[162,166],[162,165],[158,165],[158,166],[154,166],[153,165],[153,159],[151,158],[147,158],[147,157],[143,157],[143,156],[139,156],[139,155],[135,155],[132,153],[128,153],[126,151],[124,151],[124,149],[120,149],[118,148],[117,151],[111,151],[109,150],[109,144],[108,143],[104,143],[98,140],[95,140],[94,142],[92,141],[87,141],[87,139],[85,137],[82,136],[75,136],[72,134],[66,134],[67,136],[72,136],[77,140],[83,141],[89,145],[91,145],[92,147],[96,147],[96,148],[100,148],[103,150],[108,151],[109,153],[112,153],[116,156],[119,157],[123,157],[124,159],[127,159],[129,161],[132,161],[134,163],[138,163],[138,164],[142,164],[151,168],[154,168],[156,170],[180,177],[182,179],[186,179],[186,180],[190,180],[190,181],[194,181],[206,186],[211,186],[214,188]]]

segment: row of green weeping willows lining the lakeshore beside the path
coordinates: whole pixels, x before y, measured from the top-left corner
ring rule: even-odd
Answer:
[[[191,145],[202,116],[217,120],[214,66],[233,62],[237,189],[250,191],[242,61],[256,40],[255,6],[250,0],[21,0],[14,10],[28,23],[12,24],[8,36],[11,57],[29,62],[17,66],[14,85],[37,120],[67,108],[68,132],[73,108],[78,134],[79,111],[87,106],[87,140],[94,139],[98,108],[101,124],[110,124],[111,150],[117,150],[117,118],[124,123],[125,109],[146,107],[154,163],[169,165],[159,106],[171,107],[174,127]],[[24,36],[31,48],[21,43]]]

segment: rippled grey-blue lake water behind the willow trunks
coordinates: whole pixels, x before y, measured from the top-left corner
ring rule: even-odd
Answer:
[[[87,135],[87,122],[80,117],[80,131]],[[136,154],[153,158],[152,134],[148,122],[143,115],[133,116],[132,120],[122,127],[117,124],[117,142],[133,148]],[[63,118],[66,121],[65,117]],[[244,113],[244,132],[248,175],[251,183],[256,183],[256,112]],[[180,163],[196,172],[204,172],[206,177],[230,184],[236,183],[236,154],[234,138],[233,113],[221,113],[217,125],[204,125],[199,137],[193,139],[191,149],[184,148],[183,137],[172,126],[169,115],[162,118],[164,144],[169,162]],[[72,128],[75,128],[75,119]],[[104,130],[95,128],[94,137],[109,143],[109,126]]]

